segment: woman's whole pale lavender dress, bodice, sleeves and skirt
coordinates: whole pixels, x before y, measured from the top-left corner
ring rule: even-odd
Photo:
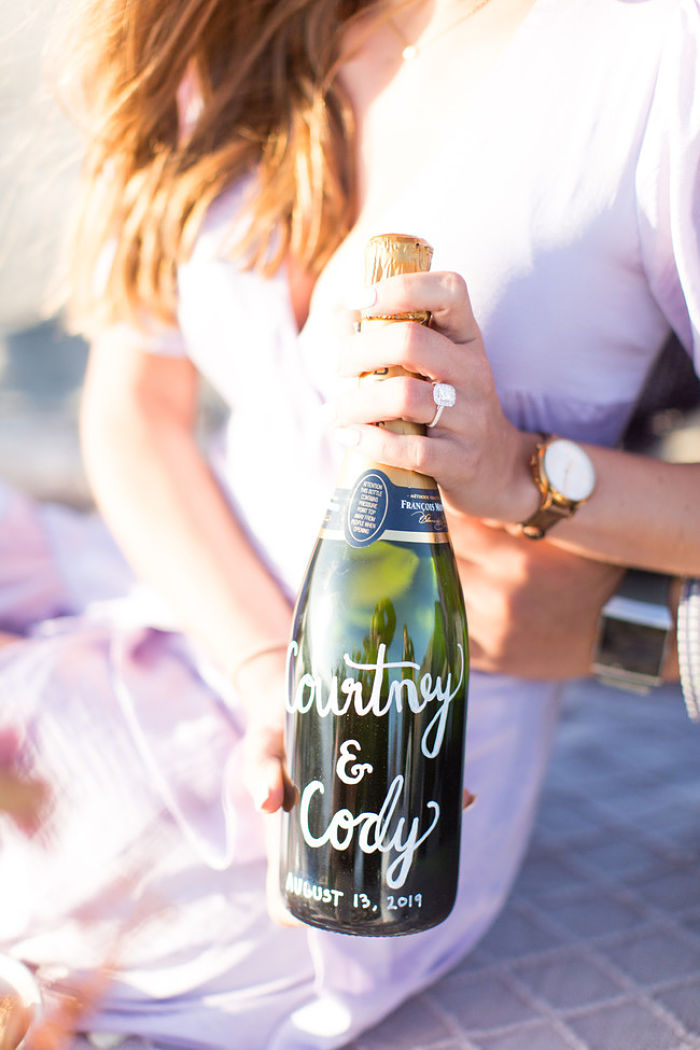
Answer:
[[[436,268],[465,275],[518,426],[613,444],[670,329],[700,361],[699,52],[698,0],[536,0],[454,136],[381,225],[341,247],[300,334],[284,275],[264,281],[224,257],[248,188],[215,204],[179,275],[178,330],[145,349],[189,355],[231,406],[214,466],[285,592],[333,484],[333,307],[368,234],[425,236]],[[0,949],[59,984],[107,958],[114,981],[90,1030],[340,1047],[493,920],[527,844],[555,686],[472,676],[466,780],[479,802],[445,923],[388,940],[282,928],[266,915],[236,696],[101,523],[1,490],[0,581],[0,623],[28,634],[0,650],[0,726],[20,728],[27,768],[55,793],[33,841],[0,820],[12,902]]]

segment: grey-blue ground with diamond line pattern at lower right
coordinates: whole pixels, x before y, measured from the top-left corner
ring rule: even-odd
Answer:
[[[698,1050],[699,866],[700,727],[677,691],[571,687],[505,911],[353,1050]]]

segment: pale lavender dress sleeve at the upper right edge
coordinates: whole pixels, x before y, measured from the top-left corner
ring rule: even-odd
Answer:
[[[700,373],[700,0],[679,0],[636,173],[642,265]]]

